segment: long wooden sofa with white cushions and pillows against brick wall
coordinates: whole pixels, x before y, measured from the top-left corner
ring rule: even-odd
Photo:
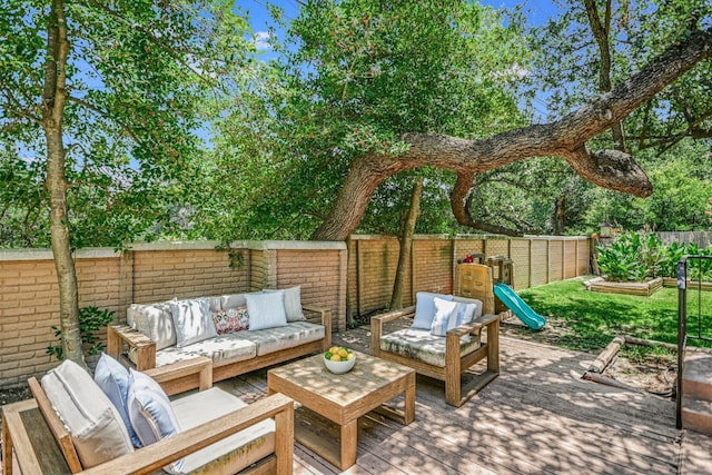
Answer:
[[[307,316],[310,316],[308,319]],[[131,305],[126,326],[110,326],[107,353],[137,370],[205,356],[212,382],[326,350],[332,311],[303,305],[300,287]],[[199,386],[174,379],[168,394]]]

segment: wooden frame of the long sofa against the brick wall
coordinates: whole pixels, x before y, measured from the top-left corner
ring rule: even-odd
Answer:
[[[249,359],[241,359],[226,365],[214,366],[211,374],[212,382],[215,383],[231,378],[234,376],[273,366],[278,363],[284,363],[300,356],[326,352],[332,346],[332,310],[313,305],[303,305],[301,308],[305,311],[319,315],[319,323],[324,326],[323,339],[305,343],[291,348],[285,348],[267,355],[255,356]],[[134,360],[129,360],[126,357],[129,348],[134,348],[136,352],[136,358]],[[145,372],[156,367],[156,343],[140,331],[126,325],[112,325],[107,328],[106,352],[115,359],[122,360],[125,364],[135,366],[139,372]],[[182,393],[198,386],[198,375],[192,374],[166,382],[164,388],[166,393],[170,395]]]

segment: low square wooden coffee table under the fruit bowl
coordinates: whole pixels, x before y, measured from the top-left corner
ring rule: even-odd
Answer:
[[[315,434],[307,425],[295,424],[295,438],[340,469],[356,463],[360,416],[378,409],[380,414],[404,425],[415,419],[415,370],[354,353],[356,365],[343,375],[326,369],[323,354],[267,373],[269,394],[285,394],[340,427],[340,444],[335,448],[326,437]],[[400,393],[405,395],[404,410],[382,407]]]

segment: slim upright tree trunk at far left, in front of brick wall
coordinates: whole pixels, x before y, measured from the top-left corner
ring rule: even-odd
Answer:
[[[49,14],[48,56],[42,92],[42,128],[47,140],[47,189],[50,197],[52,255],[59,284],[59,319],[62,330],[62,355],[86,367],[79,331],[79,296],[77,271],[69,240],[67,176],[62,116],[66,102],[66,68],[69,55],[67,22],[62,0],[53,0]]]

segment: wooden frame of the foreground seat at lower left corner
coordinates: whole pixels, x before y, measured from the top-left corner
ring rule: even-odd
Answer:
[[[211,386],[208,358],[199,357],[146,372],[159,383],[198,373],[201,389]],[[2,473],[22,474],[149,474],[188,454],[207,447],[239,431],[275,419],[275,452],[240,474],[291,474],[294,464],[294,400],[274,394],[247,407],[210,420],[189,431],[85,469],[63,423],[51,407],[36,378],[28,380],[32,399],[2,407]]]

